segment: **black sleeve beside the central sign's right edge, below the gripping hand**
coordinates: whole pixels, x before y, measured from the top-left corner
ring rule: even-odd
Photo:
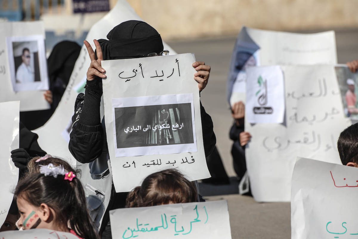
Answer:
[[[213,152],[215,144],[216,144],[216,136],[214,134],[214,125],[213,121],[206,113],[203,105],[200,101],[200,115],[202,118],[202,130],[203,130],[203,143],[204,143],[204,151],[205,151],[205,157],[210,156],[210,154]]]

